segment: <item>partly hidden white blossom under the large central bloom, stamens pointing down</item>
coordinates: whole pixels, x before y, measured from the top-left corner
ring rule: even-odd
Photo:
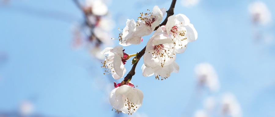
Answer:
[[[175,61],[168,66],[159,66],[156,68],[146,67],[145,64],[143,64],[141,70],[143,76],[155,75],[156,79],[160,79],[159,77],[161,77],[161,80],[163,80],[163,78],[167,79],[168,77],[170,77],[170,74],[172,72],[178,73],[179,66]]]

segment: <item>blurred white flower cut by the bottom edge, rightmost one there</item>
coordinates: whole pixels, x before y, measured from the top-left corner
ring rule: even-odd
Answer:
[[[241,117],[242,112],[240,104],[232,93],[225,93],[222,96],[221,112],[223,115],[228,114],[231,117]]]

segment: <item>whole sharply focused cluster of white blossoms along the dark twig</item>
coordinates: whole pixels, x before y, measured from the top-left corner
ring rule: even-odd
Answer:
[[[108,54],[102,62],[102,67],[107,68],[105,70],[107,74],[111,73],[114,79],[123,78],[126,73],[124,64],[126,60],[134,56],[136,56],[132,60],[134,69],[141,56],[144,56],[144,64],[141,67],[143,76],[155,75],[156,79],[163,80],[170,77],[172,72],[178,73],[179,65],[175,62],[176,54],[183,53],[187,43],[197,39],[197,32],[183,14],[169,15],[166,24],[160,25],[165,13],[165,8],[154,6],[152,12],[147,10],[147,13],[140,13],[137,21],[127,20],[126,27],[122,29],[122,33],[117,38],[122,46],[140,44],[144,41],[143,36],[156,31],[148,40],[146,47],[139,53],[126,54],[122,46],[101,51],[102,54]],[[143,93],[134,88],[130,82],[134,75],[133,68],[121,83],[115,83],[115,89],[110,93],[109,100],[116,112],[132,114],[142,104]]]

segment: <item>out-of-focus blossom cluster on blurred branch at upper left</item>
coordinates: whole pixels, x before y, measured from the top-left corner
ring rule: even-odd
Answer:
[[[85,4],[80,5],[77,2],[77,5],[82,10],[85,21],[83,24],[74,26],[73,47],[88,46],[94,57],[104,60],[104,56],[100,53],[102,46],[113,45],[109,39],[114,23],[108,16],[108,7],[103,0],[86,0]],[[85,33],[85,39],[82,38],[83,34],[80,30]]]

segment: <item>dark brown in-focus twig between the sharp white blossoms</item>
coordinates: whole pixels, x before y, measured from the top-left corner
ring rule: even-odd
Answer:
[[[167,16],[165,18],[165,20],[155,28],[158,29],[160,26],[163,26],[167,23],[167,20],[168,20],[168,17],[169,16],[172,16],[174,15],[174,8],[175,8],[175,4],[176,4],[176,1],[177,0],[173,0],[172,3],[171,3],[171,6],[170,8],[166,11],[167,12]],[[138,61],[141,59],[141,57],[145,54],[145,49],[146,49],[146,46],[138,53],[138,55],[135,57]],[[136,66],[138,64],[138,61],[133,65],[132,69],[129,71],[129,73],[126,75],[126,77],[124,78],[124,80],[120,83],[119,86],[122,86],[124,84],[126,84],[128,82],[128,80],[132,79],[132,76],[135,75],[135,69],[136,69]]]

